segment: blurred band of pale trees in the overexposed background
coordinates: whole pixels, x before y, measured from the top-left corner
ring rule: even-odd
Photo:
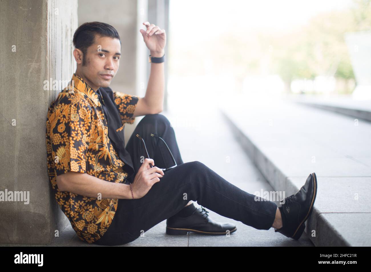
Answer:
[[[205,28],[205,40],[170,45],[171,55],[176,55],[170,65],[179,74],[217,77],[230,73],[240,83],[246,75],[269,71],[280,75],[290,92],[295,79],[325,75],[354,80],[344,34],[362,30],[371,30],[371,0],[353,0],[348,9],[320,13],[305,26],[286,32],[236,25],[209,38],[207,31],[217,30]]]

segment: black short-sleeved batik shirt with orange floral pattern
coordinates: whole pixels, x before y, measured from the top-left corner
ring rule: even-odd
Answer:
[[[46,121],[47,168],[55,199],[82,241],[100,239],[115,216],[118,199],[98,199],[60,191],[56,177],[73,171],[107,182],[124,183],[125,163],[108,138],[107,121],[98,94],[85,81],[72,76],[49,107]],[[72,82],[71,81],[71,82]],[[138,96],[113,92],[122,127],[132,124]]]

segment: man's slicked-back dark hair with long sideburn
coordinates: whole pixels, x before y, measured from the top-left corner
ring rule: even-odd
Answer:
[[[94,43],[96,34],[102,37],[117,38],[121,44],[120,36],[113,26],[102,22],[83,23],[76,29],[72,40],[75,48],[83,53],[82,66],[86,64],[86,50]]]

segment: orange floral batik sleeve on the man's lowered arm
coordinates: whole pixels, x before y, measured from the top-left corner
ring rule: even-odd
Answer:
[[[57,175],[70,171],[86,173],[91,114],[91,107],[83,103],[59,104],[54,107],[48,121]]]

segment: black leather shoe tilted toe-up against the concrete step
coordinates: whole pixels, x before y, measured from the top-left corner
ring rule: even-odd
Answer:
[[[312,173],[296,194],[285,198],[285,203],[280,204],[282,228],[275,228],[275,232],[280,232],[289,238],[298,240],[305,229],[304,222],[312,213],[316,194],[317,177],[315,173]]]

